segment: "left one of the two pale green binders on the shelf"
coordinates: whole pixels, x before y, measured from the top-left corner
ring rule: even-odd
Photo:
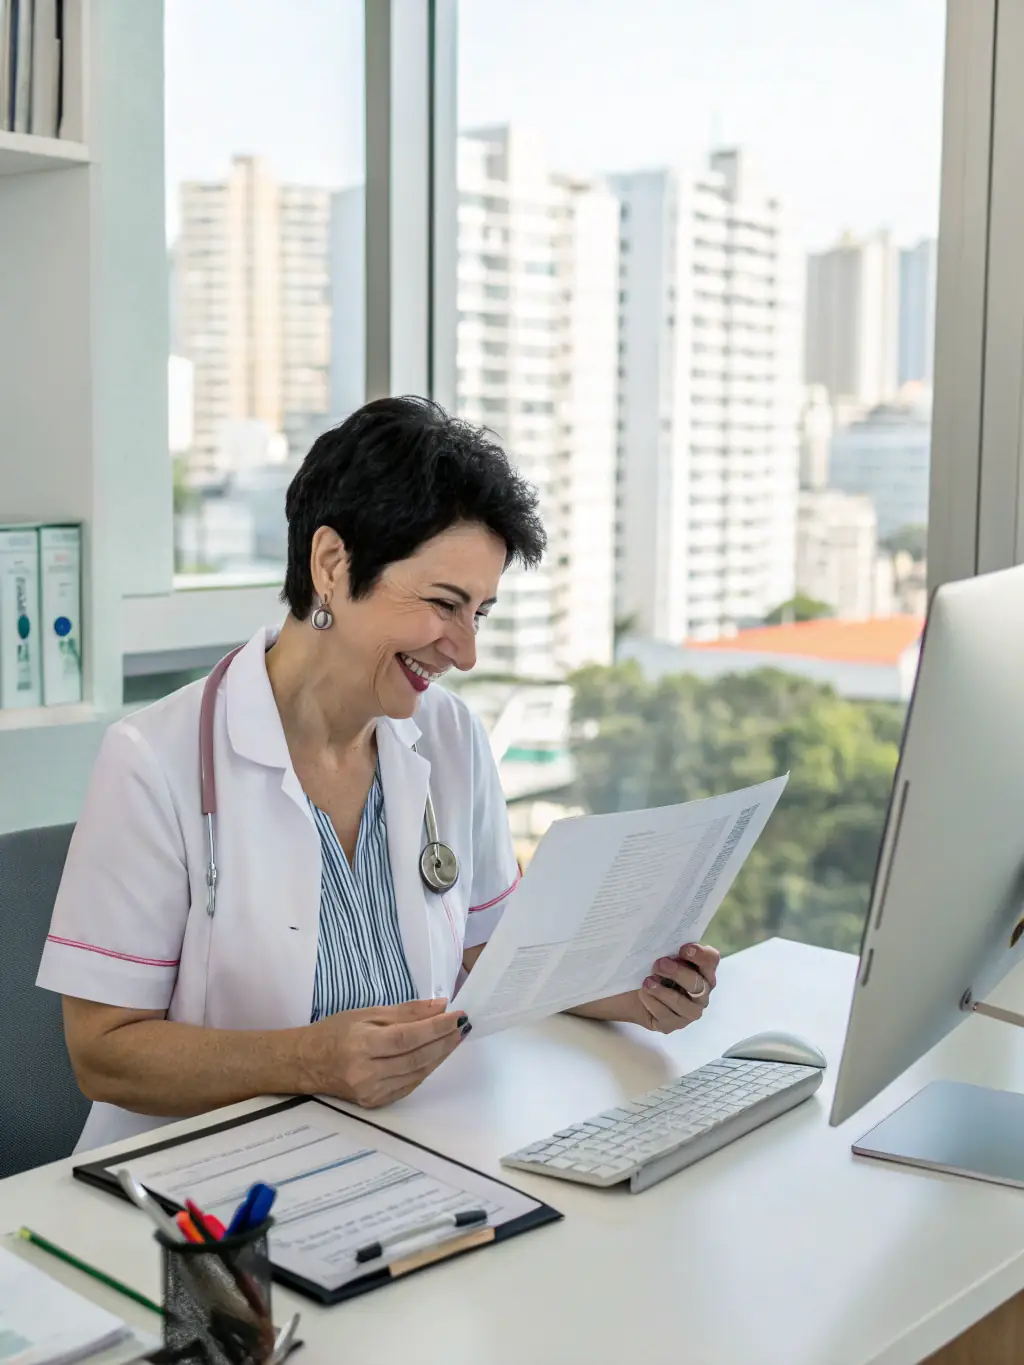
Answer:
[[[40,536],[8,527],[0,530],[0,708],[42,704],[40,654]]]

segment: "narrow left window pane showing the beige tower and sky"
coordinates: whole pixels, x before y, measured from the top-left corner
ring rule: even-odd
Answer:
[[[165,44],[175,568],[276,579],[363,400],[363,7],[167,0]]]

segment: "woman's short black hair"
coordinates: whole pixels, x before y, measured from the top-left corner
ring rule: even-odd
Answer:
[[[284,502],[288,568],[281,601],[313,610],[313,536],[329,526],[348,551],[348,591],[367,597],[384,569],[457,521],[505,542],[505,566],[535,568],[546,536],[537,493],[492,433],[429,399],[375,399],[318,437]]]

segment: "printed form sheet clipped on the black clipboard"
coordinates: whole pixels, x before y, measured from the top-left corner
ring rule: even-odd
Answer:
[[[358,1264],[360,1246],[415,1228],[438,1213],[487,1211],[498,1227],[538,1201],[478,1171],[310,1100],[220,1133],[126,1162],[165,1198],[193,1198],[223,1223],[254,1181],[277,1189],[270,1259],[325,1290],[381,1268]]]

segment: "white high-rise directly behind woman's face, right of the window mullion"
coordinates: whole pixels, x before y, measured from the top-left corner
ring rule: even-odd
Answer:
[[[459,139],[457,411],[537,486],[541,569],[505,573],[481,669],[610,662],[614,613],[618,205],[554,175],[520,128]]]

